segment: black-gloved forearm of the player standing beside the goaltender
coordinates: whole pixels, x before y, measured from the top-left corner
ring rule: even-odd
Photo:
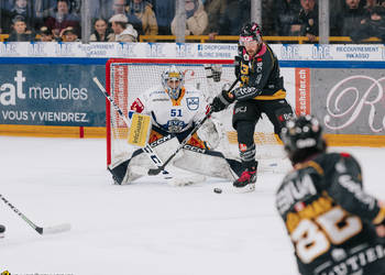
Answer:
[[[239,87],[232,91],[226,89],[227,86],[223,86],[222,91],[213,98],[211,103],[212,112],[220,112],[224,110],[229,105],[235,100],[248,100],[256,96],[260,96],[262,90],[255,87]]]

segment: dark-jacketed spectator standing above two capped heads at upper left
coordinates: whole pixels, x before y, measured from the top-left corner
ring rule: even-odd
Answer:
[[[59,37],[67,26],[73,26],[80,32],[80,20],[77,15],[69,13],[68,8],[67,0],[58,0],[56,13],[45,20],[45,25],[53,31],[55,37]]]

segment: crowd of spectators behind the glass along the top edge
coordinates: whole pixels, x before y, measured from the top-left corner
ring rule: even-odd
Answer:
[[[136,42],[141,35],[176,35],[177,0],[92,0],[91,42]],[[186,35],[238,35],[251,20],[251,0],[184,0]],[[262,0],[270,36],[318,36],[319,0]],[[385,40],[385,0],[330,0],[330,35],[354,43]],[[79,41],[81,0],[1,0],[0,33],[8,41]]]

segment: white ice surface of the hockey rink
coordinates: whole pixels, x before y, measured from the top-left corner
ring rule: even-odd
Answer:
[[[250,194],[218,178],[175,187],[148,177],[117,186],[106,169],[105,140],[0,136],[0,194],[37,226],[72,224],[40,235],[1,201],[0,272],[297,274],[274,207],[284,174],[260,174]],[[342,150],[362,164],[366,190],[385,199],[385,148]]]

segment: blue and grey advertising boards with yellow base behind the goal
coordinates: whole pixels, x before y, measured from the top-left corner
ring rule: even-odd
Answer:
[[[332,145],[385,145],[385,65],[380,50],[373,58],[366,54],[340,61],[298,58],[288,56],[287,45],[273,46],[282,58],[287,99],[296,113],[317,116]],[[348,50],[354,52],[352,48]],[[95,57],[1,57],[0,134],[106,136],[106,101],[90,81],[94,76],[105,81],[106,62]],[[232,129],[228,136],[230,143],[237,142]]]

